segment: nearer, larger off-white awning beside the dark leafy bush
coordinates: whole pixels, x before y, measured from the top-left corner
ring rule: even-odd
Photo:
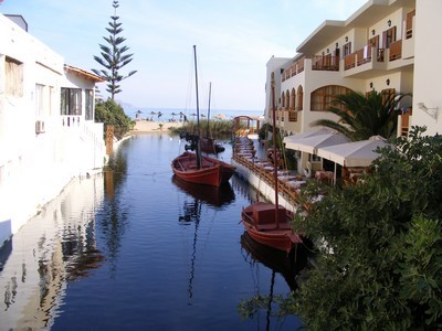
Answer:
[[[382,137],[375,136],[368,140],[347,142],[341,145],[320,147],[317,156],[344,167],[369,167],[380,157],[375,150],[391,146]]]

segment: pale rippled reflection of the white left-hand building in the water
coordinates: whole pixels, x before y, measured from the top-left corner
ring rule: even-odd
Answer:
[[[2,330],[50,328],[66,284],[87,277],[104,259],[94,226],[104,195],[103,177],[75,181],[82,185],[67,185],[2,247],[2,256],[13,247],[0,273]]]

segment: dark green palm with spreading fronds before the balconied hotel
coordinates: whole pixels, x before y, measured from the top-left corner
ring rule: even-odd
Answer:
[[[372,136],[386,139],[396,137],[398,105],[410,94],[385,95],[376,90],[364,95],[357,92],[338,95],[329,111],[339,117],[338,121],[318,119],[312,126],[324,126],[343,134],[352,141],[365,140]]]

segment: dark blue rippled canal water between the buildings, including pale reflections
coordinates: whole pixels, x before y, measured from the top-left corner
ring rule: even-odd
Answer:
[[[236,177],[220,190],[179,181],[182,151],[168,134],[131,137],[108,171],[42,206],[0,250],[0,330],[301,328],[271,300],[296,287],[296,266],[239,223],[256,193]],[[240,302],[257,296],[243,318]]]

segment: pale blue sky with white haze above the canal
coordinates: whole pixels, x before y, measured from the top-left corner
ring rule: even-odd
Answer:
[[[199,106],[262,110],[266,63],[293,57],[325,20],[346,20],[367,0],[119,0],[117,15],[133,61],[122,74],[120,103],[135,108],[196,108],[193,45]],[[0,12],[21,14],[30,34],[66,64],[101,70],[94,55],[107,43],[113,0],[2,0]],[[104,98],[105,84],[98,84]]]

